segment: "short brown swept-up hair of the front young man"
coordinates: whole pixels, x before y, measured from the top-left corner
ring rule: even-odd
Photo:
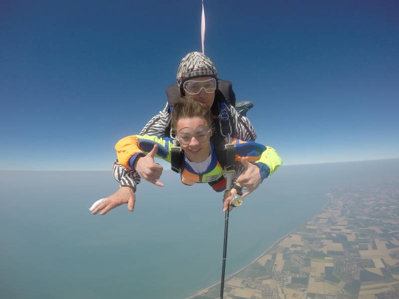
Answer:
[[[183,118],[199,117],[205,120],[206,126],[210,129],[212,126],[212,115],[210,109],[204,104],[186,97],[180,98],[173,105],[172,126],[177,128],[178,122]]]

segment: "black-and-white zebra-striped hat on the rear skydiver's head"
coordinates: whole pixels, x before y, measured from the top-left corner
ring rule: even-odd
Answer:
[[[202,76],[217,77],[217,70],[213,62],[201,52],[190,52],[182,58],[176,78],[179,86],[184,81]]]

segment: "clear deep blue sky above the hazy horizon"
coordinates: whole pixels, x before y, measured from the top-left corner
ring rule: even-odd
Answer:
[[[399,157],[397,1],[204,0],[205,54],[285,164]],[[107,170],[200,51],[200,0],[1,1],[0,169]]]

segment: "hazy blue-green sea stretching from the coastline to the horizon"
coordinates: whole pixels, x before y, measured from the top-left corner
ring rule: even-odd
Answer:
[[[330,188],[399,177],[399,159],[282,166],[230,213],[226,275],[327,203]],[[93,216],[111,171],[0,171],[0,298],[179,299],[220,281],[221,194],[164,171],[127,206]]]

